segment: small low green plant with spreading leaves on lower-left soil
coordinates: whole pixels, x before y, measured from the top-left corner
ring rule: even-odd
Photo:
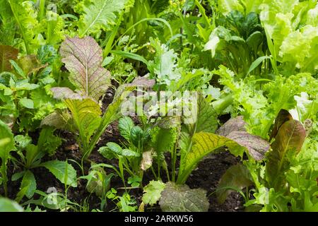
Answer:
[[[29,136],[15,136],[19,157],[12,157],[13,162],[20,168],[21,172],[13,174],[12,180],[16,181],[22,178],[20,191],[16,196],[16,201],[20,202],[24,196],[32,198],[35,194],[37,183],[32,169],[45,167],[52,172],[61,183],[76,187],[76,170],[66,161],[51,160],[42,162],[45,155],[53,155],[54,151],[61,145],[61,138],[54,136],[53,128],[43,128],[40,132],[37,145],[32,144]]]

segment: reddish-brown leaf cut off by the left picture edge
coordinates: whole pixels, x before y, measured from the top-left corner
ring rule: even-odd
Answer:
[[[0,72],[11,71],[10,60],[17,59],[18,49],[8,45],[0,45]]]

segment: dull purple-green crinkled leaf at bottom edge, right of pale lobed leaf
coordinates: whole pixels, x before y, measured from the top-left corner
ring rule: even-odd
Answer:
[[[189,189],[186,184],[165,184],[159,205],[163,212],[207,212],[208,198],[204,189]]]

